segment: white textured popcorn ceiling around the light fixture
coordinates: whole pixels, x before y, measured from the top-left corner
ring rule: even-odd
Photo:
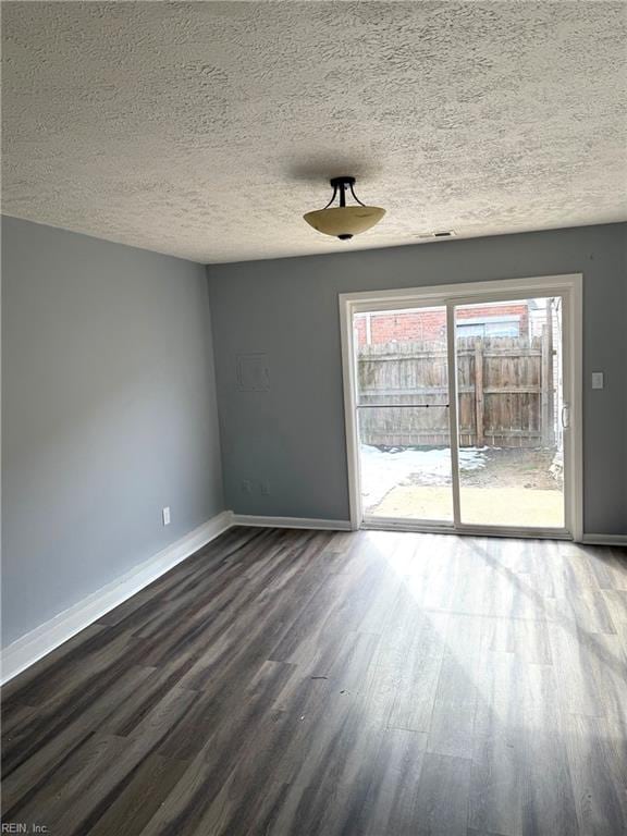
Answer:
[[[3,3],[3,211],[219,262],[627,218],[623,2]],[[351,243],[327,180],[388,208]]]

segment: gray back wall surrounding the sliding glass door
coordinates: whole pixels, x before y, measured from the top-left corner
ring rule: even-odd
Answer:
[[[611,224],[210,266],[226,505],[348,518],[339,293],[582,272],[585,526],[625,532],[626,236],[627,224]],[[237,390],[236,355],[246,352],[268,352],[268,392]],[[593,392],[600,370],[606,386]],[[251,493],[242,480],[256,482]]]

